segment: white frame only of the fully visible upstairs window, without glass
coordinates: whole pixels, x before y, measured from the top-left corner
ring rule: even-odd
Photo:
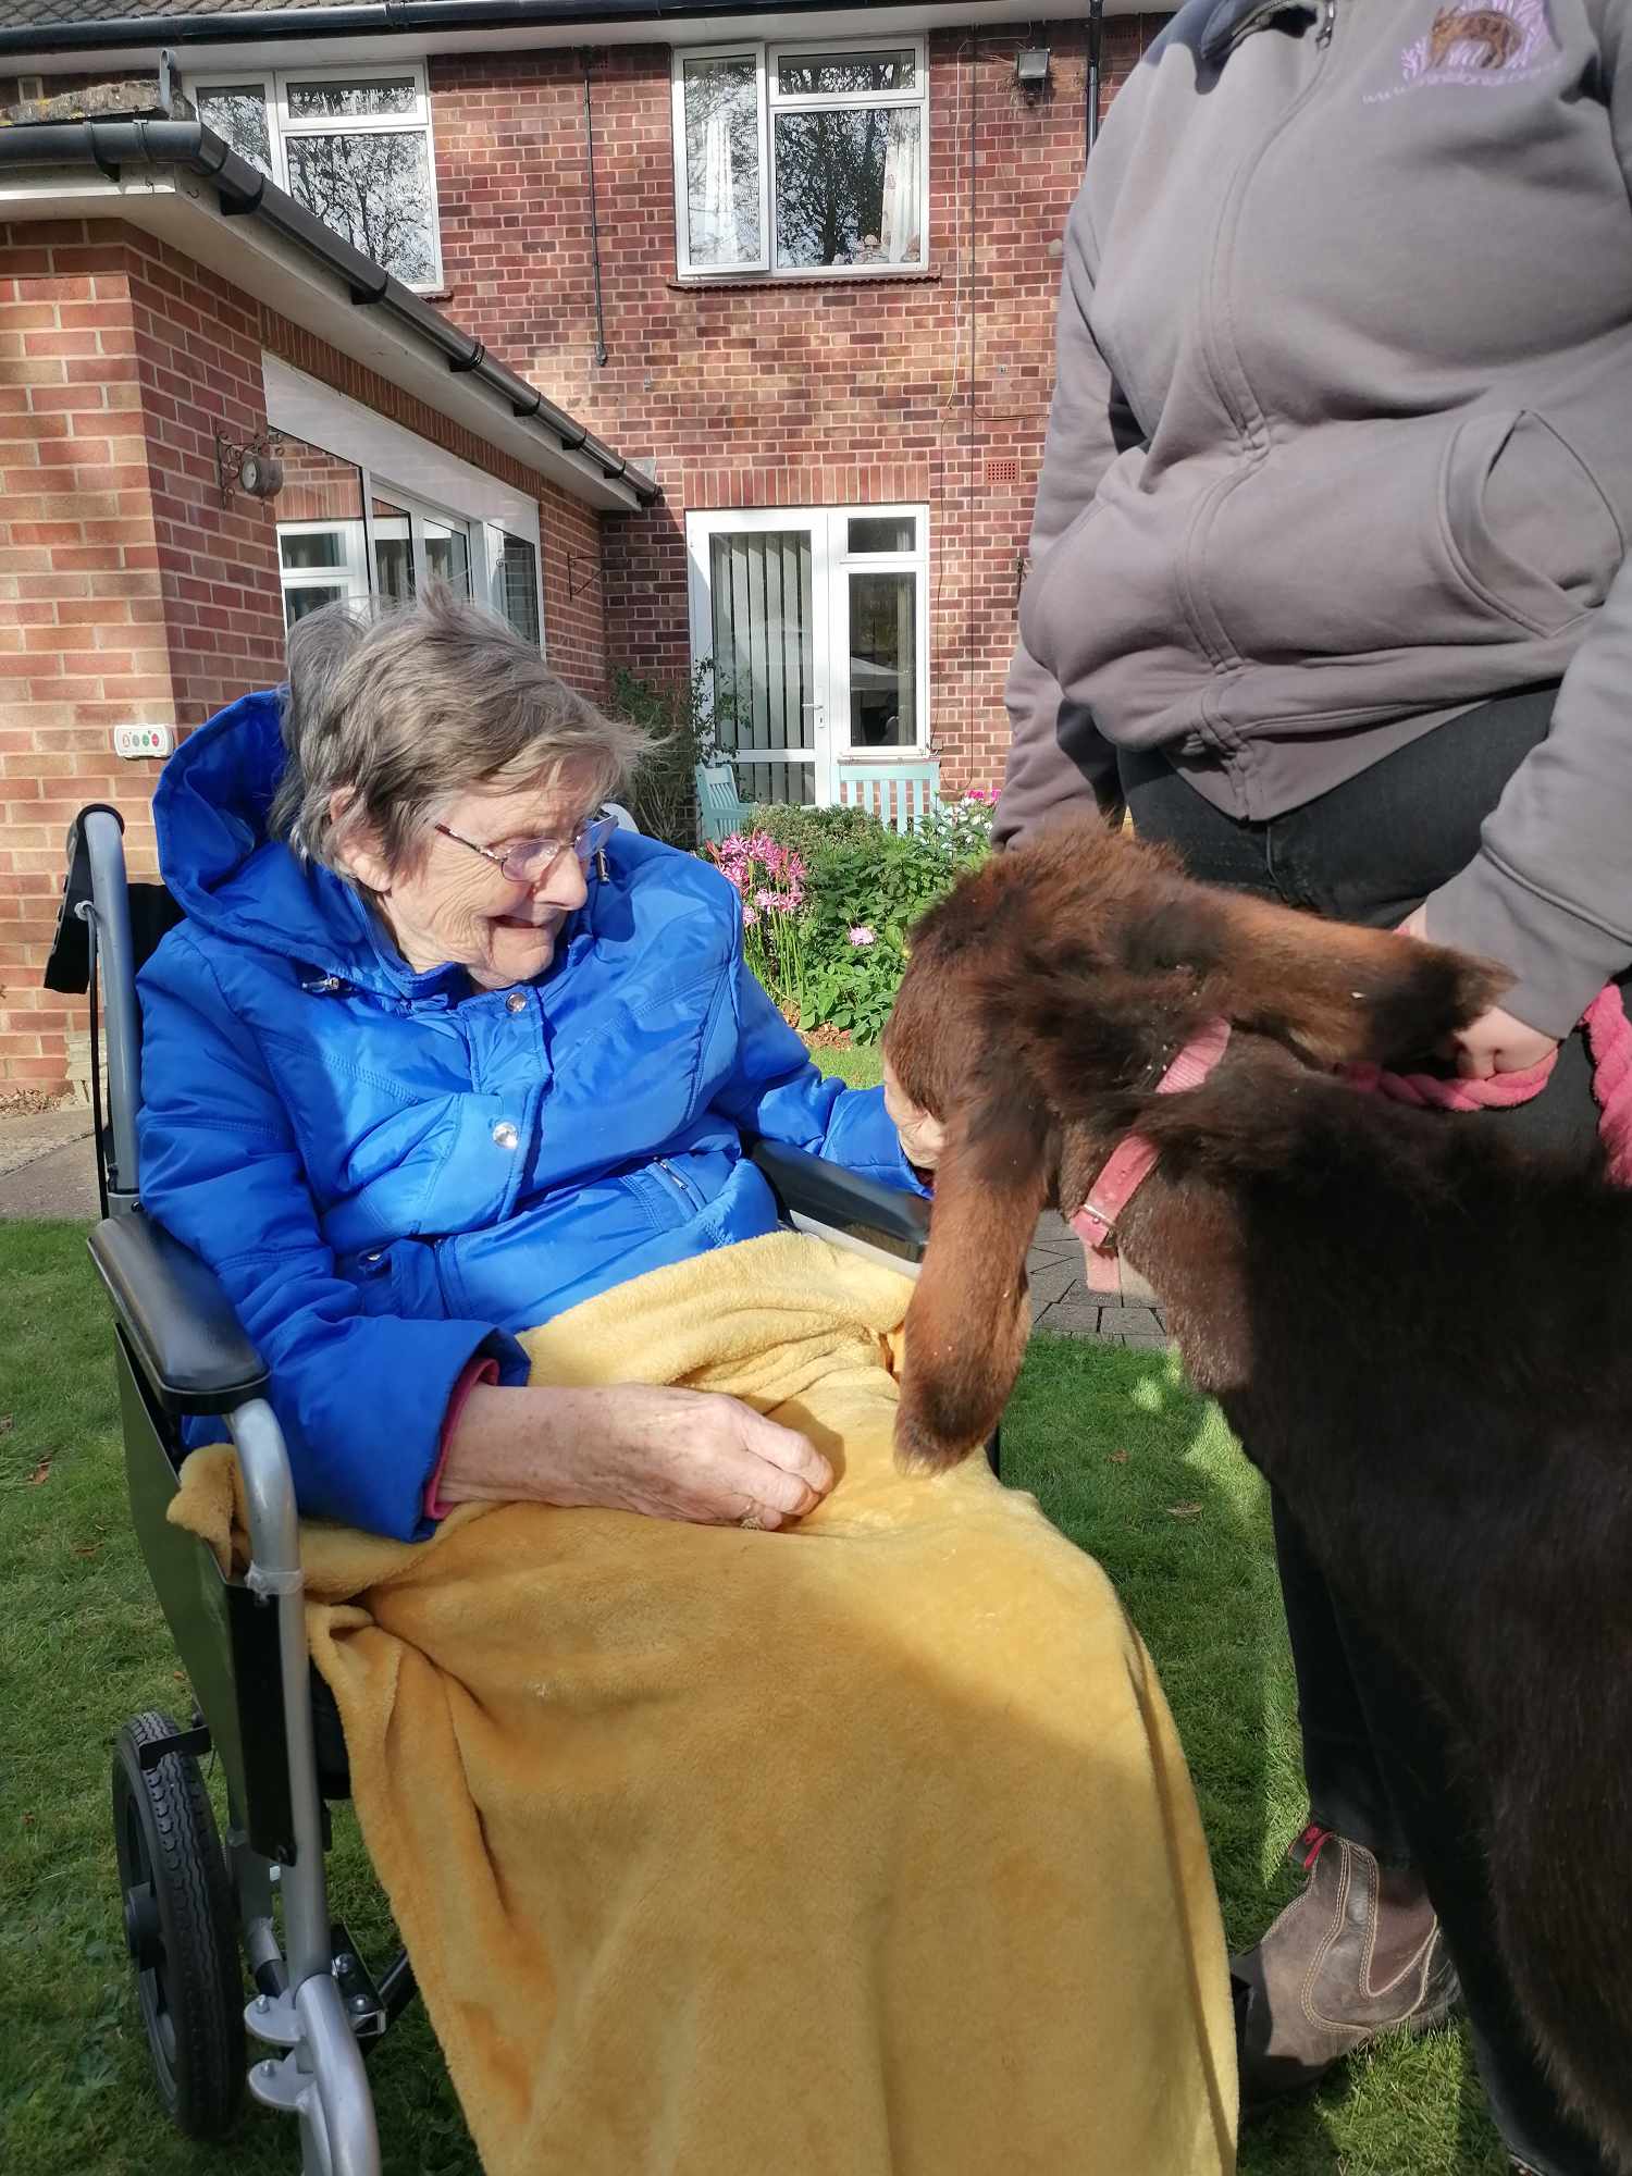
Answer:
[[[914,89],[910,91],[779,91],[779,63],[790,54],[838,54],[838,52],[912,52]],[[685,63],[688,61],[753,61],[755,98],[759,104],[759,239],[762,250],[753,263],[698,265],[692,263],[692,207],[690,176],[685,168]],[[215,78],[211,78],[215,81]],[[870,265],[779,265],[777,263],[777,187],[775,146],[777,113],[823,113],[842,107],[916,107],[923,113],[918,124],[918,191],[925,207],[918,233],[918,257],[907,263]],[[923,37],[794,37],[775,46],[675,46],[670,54],[670,135],[675,148],[675,268],[683,281],[731,281],[731,279],[901,279],[901,274],[929,270],[929,46]]]

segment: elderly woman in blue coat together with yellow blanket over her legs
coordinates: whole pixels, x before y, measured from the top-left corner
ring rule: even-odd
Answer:
[[[907,1286],[777,1234],[744,1134],[910,1164],[725,879],[598,816],[638,753],[437,594],[300,622],[154,803],[144,1203],[268,1362],[483,2161],[1216,2176],[1160,1691],[1029,1499],[894,1473]]]

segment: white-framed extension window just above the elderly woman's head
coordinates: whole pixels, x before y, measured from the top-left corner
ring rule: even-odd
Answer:
[[[537,500],[263,357],[281,442],[283,620],[339,598],[409,603],[446,581],[544,642]]]

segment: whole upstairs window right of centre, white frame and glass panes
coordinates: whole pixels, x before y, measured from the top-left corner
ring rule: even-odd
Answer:
[[[923,41],[675,54],[681,276],[920,272]]]

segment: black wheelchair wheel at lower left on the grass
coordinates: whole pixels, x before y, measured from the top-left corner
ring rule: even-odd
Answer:
[[[124,1941],[165,2109],[189,2139],[233,2128],[244,2093],[244,1980],[215,1813],[191,1754],[144,1769],[176,1723],[148,1710],[113,1745]]]

